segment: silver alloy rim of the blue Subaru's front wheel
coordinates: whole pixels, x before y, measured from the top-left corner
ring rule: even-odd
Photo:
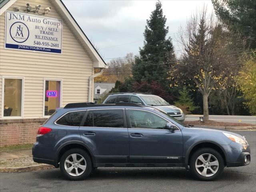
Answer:
[[[216,174],[219,168],[218,159],[209,153],[202,154],[196,159],[196,171],[205,177]]]

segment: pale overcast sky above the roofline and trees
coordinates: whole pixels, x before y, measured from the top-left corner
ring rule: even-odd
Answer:
[[[106,62],[109,58],[138,54],[143,46],[146,19],[155,9],[156,0],[63,0],[86,36],[96,46]],[[178,28],[197,9],[207,6],[213,11],[210,0],[162,0],[163,12],[169,26],[176,53]],[[124,44],[124,45],[120,45]],[[118,46],[120,45],[120,46]]]

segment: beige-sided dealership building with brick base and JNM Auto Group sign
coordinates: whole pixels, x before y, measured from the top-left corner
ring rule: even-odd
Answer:
[[[1,0],[0,146],[33,143],[56,108],[92,102],[104,68],[61,0]]]

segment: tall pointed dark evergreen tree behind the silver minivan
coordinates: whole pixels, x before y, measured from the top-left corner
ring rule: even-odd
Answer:
[[[169,87],[168,71],[175,61],[172,39],[166,39],[169,28],[166,27],[166,17],[163,15],[162,4],[156,2],[156,9],[152,11],[150,19],[146,21],[144,31],[144,46],[140,48],[140,56],[135,58],[132,74],[136,82],[152,81]]]

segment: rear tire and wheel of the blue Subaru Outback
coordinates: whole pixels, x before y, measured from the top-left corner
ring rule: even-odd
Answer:
[[[92,172],[92,161],[84,150],[70,149],[60,158],[60,170],[69,180],[82,180]]]

